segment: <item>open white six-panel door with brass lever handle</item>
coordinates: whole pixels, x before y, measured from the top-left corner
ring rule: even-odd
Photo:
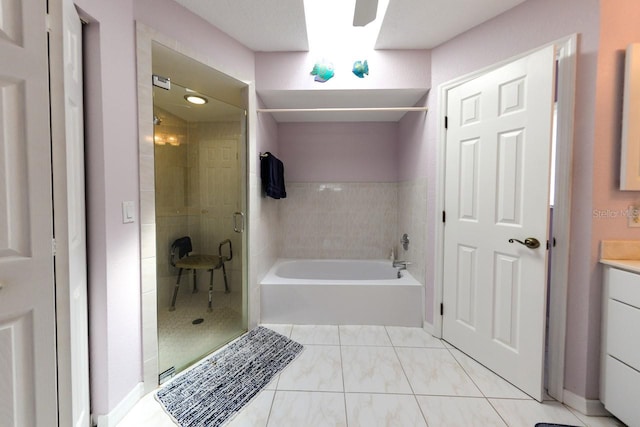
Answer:
[[[443,337],[538,400],[554,79],[551,46],[447,95]]]

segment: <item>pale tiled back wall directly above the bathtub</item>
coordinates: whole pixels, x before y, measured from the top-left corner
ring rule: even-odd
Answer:
[[[397,246],[398,184],[288,182],[281,257],[388,259]]]

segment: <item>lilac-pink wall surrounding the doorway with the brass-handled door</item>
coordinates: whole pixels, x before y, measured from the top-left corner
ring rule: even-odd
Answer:
[[[630,3],[631,0],[627,3]],[[611,6],[613,8],[613,5]],[[616,6],[619,7],[618,2]],[[576,86],[576,122],[574,128],[573,212],[569,303],[567,308],[567,361],[565,388],[589,399],[598,397],[597,340],[599,317],[594,289],[594,265],[590,252],[595,237],[591,236],[593,174],[601,167],[610,170],[611,163],[594,167],[594,121],[596,111],[596,70],[598,55],[598,0],[530,0],[482,24],[467,33],[433,49],[432,87],[453,78],[489,66],[545,43],[579,33]],[[436,191],[433,165],[437,158],[437,94],[432,92],[428,104],[429,217],[434,218]],[[598,141],[611,149],[611,141]],[[607,190],[607,192],[610,192]],[[435,222],[429,222],[427,253],[433,253]],[[432,260],[430,260],[432,262]],[[427,266],[427,274],[433,271]],[[599,279],[598,279],[599,280]],[[427,277],[427,293],[431,293],[433,277]],[[431,289],[430,289],[431,288]]]

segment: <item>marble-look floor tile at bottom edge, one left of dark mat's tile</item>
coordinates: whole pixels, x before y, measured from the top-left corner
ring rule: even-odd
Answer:
[[[506,427],[500,415],[483,397],[416,396],[430,426]],[[533,427],[531,424],[530,427]]]

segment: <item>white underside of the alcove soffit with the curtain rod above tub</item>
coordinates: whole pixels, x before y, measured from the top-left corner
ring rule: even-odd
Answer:
[[[259,91],[258,113],[277,122],[397,122],[408,112],[426,112],[426,89]]]

